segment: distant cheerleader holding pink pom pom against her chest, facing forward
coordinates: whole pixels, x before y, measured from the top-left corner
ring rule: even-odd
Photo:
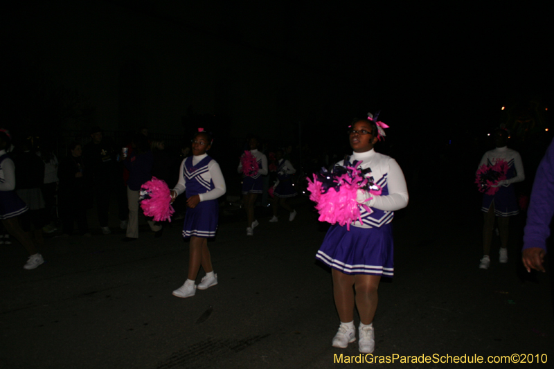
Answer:
[[[267,157],[258,151],[258,138],[251,137],[248,141],[250,153],[258,161],[258,170],[252,173],[245,173],[242,170],[242,160],[238,164],[238,172],[243,173],[242,178],[242,199],[244,208],[247,210],[247,235],[254,235],[254,228],[260,223],[254,219],[254,204],[256,198],[263,192],[262,175],[267,175]],[[242,154],[244,157],[244,154]]]

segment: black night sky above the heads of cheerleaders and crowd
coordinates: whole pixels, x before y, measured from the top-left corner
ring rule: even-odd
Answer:
[[[208,123],[216,137],[238,141],[220,150],[253,133],[269,145],[301,141],[310,145],[305,155],[332,147],[340,156],[352,118],[380,110],[391,128],[377,150],[403,168],[430,156],[473,171],[500,123],[513,128],[510,146],[530,169],[551,139],[545,6],[77,3],[24,1],[3,14],[3,125],[21,135],[143,124],[153,134],[187,136]],[[102,60],[115,54],[141,69],[106,73]],[[151,54],[157,62],[141,64]],[[180,68],[179,60],[188,64]],[[150,97],[134,92],[150,90]]]

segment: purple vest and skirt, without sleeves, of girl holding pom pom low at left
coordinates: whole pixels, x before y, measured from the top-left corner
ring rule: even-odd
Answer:
[[[191,197],[211,191],[215,188],[213,181],[206,181],[202,174],[208,172],[208,164],[212,161],[206,156],[193,165],[193,156],[184,160],[183,176],[186,183],[186,195]],[[217,199],[200,201],[195,208],[187,208],[183,225],[183,237],[197,236],[202,238],[215,237],[220,206]]]

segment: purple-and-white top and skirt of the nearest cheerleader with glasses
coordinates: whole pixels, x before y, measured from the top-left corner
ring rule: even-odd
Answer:
[[[368,201],[371,213],[361,208],[361,222],[345,226],[334,224],[325,235],[316,259],[345,274],[394,275],[393,233],[394,210],[408,204],[406,181],[400,166],[389,156],[373,150],[354,153],[350,161],[361,161],[360,167],[370,168],[366,177],[373,177],[382,190],[380,196]],[[343,162],[339,162],[343,165]],[[368,198],[367,192],[364,192]]]

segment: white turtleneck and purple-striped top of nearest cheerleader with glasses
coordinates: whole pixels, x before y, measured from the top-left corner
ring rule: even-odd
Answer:
[[[354,152],[350,156],[350,163],[353,161],[361,161],[359,168],[370,168],[366,177],[373,177],[374,183],[381,188],[382,192],[381,195],[370,195],[369,192],[359,191],[361,192],[358,195],[360,203],[373,197],[364,203],[373,210],[373,213],[368,213],[364,207],[361,207],[362,222],[357,220],[352,223],[352,226],[373,228],[392,222],[394,211],[405,208],[409,199],[406,180],[400,165],[391,156],[379,154],[373,149],[367,152]],[[343,161],[337,164],[343,165]]]

